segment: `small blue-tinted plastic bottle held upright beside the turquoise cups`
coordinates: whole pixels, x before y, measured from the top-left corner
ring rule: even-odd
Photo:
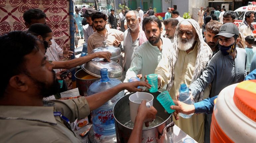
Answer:
[[[183,103],[186,103],[186,104],[193,104],[194,101],[191,99],[191,96],[192,95],[189,95],[189,88],[187,87],[186,84],[181,84],[181,88],[179,89],[179,92],[180,92],[180,97],[179,97],[179,100]],[[179,113],[179,115],[182,117],[182,118],[190,118],[194,113],[190,114],[190,115],[186,115],[186,114],[183,114],[183,113]]]

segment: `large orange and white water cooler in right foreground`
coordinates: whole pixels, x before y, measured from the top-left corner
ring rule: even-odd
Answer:
[[[256,80],[223,89],[214,105],[211,143],[256,143]]]

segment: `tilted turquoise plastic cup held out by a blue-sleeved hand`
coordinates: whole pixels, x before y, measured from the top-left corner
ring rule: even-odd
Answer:
[[[157,96],[157,100],[165,108],[165,110],[171,114],[175,110],[171,109],[171,105],[175,105],[168,91],[164,91]]]

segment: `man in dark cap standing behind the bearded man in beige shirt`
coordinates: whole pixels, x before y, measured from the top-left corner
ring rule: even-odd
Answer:
[[[84,34],[84,44],[82,52],[87,53],[87,43],[89,36],[96,31],[95,27],[93,26],[93,21],[91,20],[91,15],[97,12],[92,8],[88,8],[81,17],[86,18],[86,22],[88,24],[83,26],[83,34]]]

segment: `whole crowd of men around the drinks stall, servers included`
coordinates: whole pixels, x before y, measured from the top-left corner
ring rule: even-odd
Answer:
[[[3,142],[21,142],[21,137],[28,135],[30,137],[22,141],[80,142],[63,118],[55,116],[53,111],[60,112],[70,122],[84,118],[121,90],[142,91],[137,89],[138,86],[150,88],[146,79],[148,74],[158,74],[158,88],[168,90],[174,100],[179,96],[180,85],[185,83],[194,102],[198,103],[203,99],[216,98],[222,89],[243,81],[256,68],[256,54],[252,48],[256,35],[253,35],[251,25],[254,13],[245,14],[246,19],[240,29],[233,23],[233,11],[220,13],[223,24],[207,18],[205,30],[201,32],[202,10],[198,12],[201,16],[198,23],[181,18],[177,10],[168,8],[164,25],[154,16],[152,8],[146,13],[147,16],[141,14],[140,7],[138,10],[121,12],[127,24],[127,29],[122,32],[116,29],[114,10],[107,17],[94,9],[85,9],[81,17],[86,18],[88,23],[83,27],[87,47],[83,51],[86,50],[88,55],[69,61],[60,61],[59,54],[69,57],[73,53],[66,49],[58,51],[60,48],[53,40],[52,30],[46,25],[46,15],[39,9],[24,13],[26,32],[13,31],[0,36],[1,47],[9,47],[3,48],[3,52],[14,54],[3,67],[9,70],[2,70],[5,75],[0,96],[0,136]],[[107,18],[111,28],[106,28]],[[163,27],[166,38],[161,36]],[[53,69],[76,67],[95,57],[110,61],[109,52],[90,54],[93,49],[103,46],[102,41],[122,47],[124,83],[87,97],[43,101],[59,89],[57,79],[60,79],[62,71]],[[56,56],[53,56],[53,51]],[[7,56],[4,54],[4,58]],[[128,82],[139,74],[145,82]],[[212,101],[210,99],[208,101]],[[175,103],[179,108],[172,106],[173,109],[185,112],[180,108],[183,103]],[[197,111],[193,108],[189,112]],[[179,119],[175,122],[197,142],[209,143],[211,112],[200,113],[207,114],[193,115],[189,119],[175,114],[174,118]],[[142,102],[129,142],[141,142],[142,124],[152,121],[156,114],[153,106],[146,108],[146,102]]]

